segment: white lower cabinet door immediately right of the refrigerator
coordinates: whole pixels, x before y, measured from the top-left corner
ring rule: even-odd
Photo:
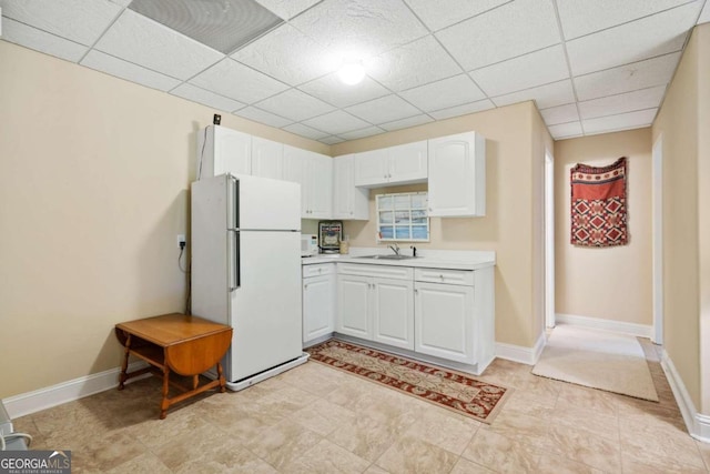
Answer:
[[[303,342],[335,330],[335,275],[303,280]]]

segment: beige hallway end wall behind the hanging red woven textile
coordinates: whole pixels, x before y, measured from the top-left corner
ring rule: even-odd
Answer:
[[[629,243],[581,248],[570,242],[569,172],[628,157]],[[556,312],[651,325],[651,130],[606,133],[555,143]]]

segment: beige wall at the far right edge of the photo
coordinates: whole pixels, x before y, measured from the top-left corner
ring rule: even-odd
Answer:
[[[663,143],[665,346],[703,413],[710,413],[709,69],[710,24],[703,24],[653,123],[653,141]]]

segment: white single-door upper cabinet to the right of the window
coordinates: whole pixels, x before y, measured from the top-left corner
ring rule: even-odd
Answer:
[[[429,140],[429,216],[486,215],[486,139],[467,132]]]

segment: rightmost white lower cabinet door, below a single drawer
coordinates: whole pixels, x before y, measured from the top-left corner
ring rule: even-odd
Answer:
[[[474,364],[473,286],[415,283],[415,344],[423,354]]]

